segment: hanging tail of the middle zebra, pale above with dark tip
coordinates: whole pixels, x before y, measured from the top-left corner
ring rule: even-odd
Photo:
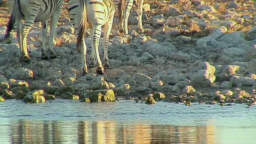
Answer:
[[[83,4],[83,12],[82,12],[82,18],[79,25],[79,32],[76,39],[76,51],[81,52],[81,44],[83,42],[83,38],[86,34],[86,24],[87,24],[87,13],[86,13],[86,6]]]

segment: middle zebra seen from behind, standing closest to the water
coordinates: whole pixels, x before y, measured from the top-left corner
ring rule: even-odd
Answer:
[[[110,68],[110,64],[108,63],[108,44],[115,10],[116,8],[113,0],[68,0],[69,17],[70,20],[73,21],[77,36],[76,50],[78,52],[82,51],[83,56],[82,75],[88,73],[86,65],[87,46],[85,43],[86,28],[91,28],[91,34],[93,34],[91,41],[91,64],[89,67],[97,66],[96,72],[98,74],[104,74],[104,67]],[[102,26],[104,26],[104,67],[102,66],[99,54]]]

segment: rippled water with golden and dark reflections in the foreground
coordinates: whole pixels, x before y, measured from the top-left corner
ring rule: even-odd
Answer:
[[[0,102],[0,144],[256,144],[256,106]]]

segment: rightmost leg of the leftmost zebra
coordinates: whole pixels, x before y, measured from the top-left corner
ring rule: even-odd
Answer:
[[[50,37],[49,37],[49,51],[50,51],[50,58],[57,58],[57,54],[53,51],[53,39],[55,34],[55,27],[57,25],[57,22],[60,18],[60,11],[61,9],[58,9],[52,14],[51,22],[50,22]]]

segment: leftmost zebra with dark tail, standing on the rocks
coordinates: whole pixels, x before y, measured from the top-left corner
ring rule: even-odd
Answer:
[[[55,26],[60,18],[64,0],[8,0],[7,3],[12,8],[12,13],[7,24],[5,38],[7,39],[10,36],[10,32],[14,27],[20,45],[20,60],[23,62],[30,62],[27,50],[27,36],[34,22],[41,22],[41,59],[48,59],[45,42],[47,38],[47,22],[49,18],[51,18],[49,38],[50,58],[57,58],[56,53],[53,51],[53,38],[55,34]],[[25,21],[23,26],[21,25],[22,19]]]

